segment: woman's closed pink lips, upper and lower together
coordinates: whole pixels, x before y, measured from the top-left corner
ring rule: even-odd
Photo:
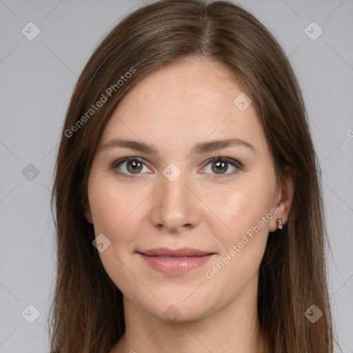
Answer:
[[[205,264],[214,253],[192,248],[158,248],[137,252],[155,270],[164,274],[183,274]]]

